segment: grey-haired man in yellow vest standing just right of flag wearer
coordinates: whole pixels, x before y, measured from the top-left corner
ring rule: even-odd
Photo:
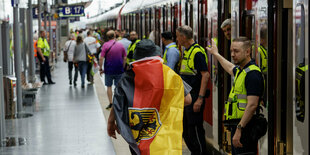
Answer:
[[[184,25],[176,29],[177,41],[185,47],[181,60],[180,76],[192,87],[192,103],[184,108],[183,138],[192,154],[207,154],[203,111],[207,83],[208,57],[203,47],[193,40],[193,30]]]

